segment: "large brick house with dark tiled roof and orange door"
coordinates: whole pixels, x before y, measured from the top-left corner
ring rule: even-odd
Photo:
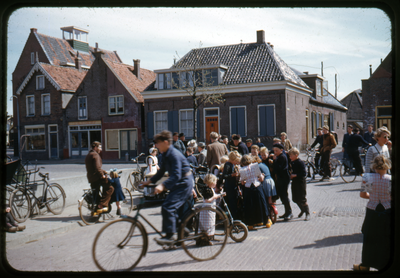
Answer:
[[[343,138],[347,108],[324,88],[324,78],[290,68],[264,37],[261,30],[256,43],[193,49],[171,68],[155,70],[155,90],[142,93],[146,139],[163,129],[193,137],[193,101],[182,87],[192,86],[195,77],[218,87],[224,98],[221,104],[199,107],[200,141],[209,143],[208,135],[217,131],[260,137],[271,148],[272,138],[286,132],[303,149],[324,124]],[[210,87],[204,87],[199,92],[209,93]]]

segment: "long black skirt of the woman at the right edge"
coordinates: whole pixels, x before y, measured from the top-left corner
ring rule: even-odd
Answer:
[[[376,210],[367,208],[362,225],[363,249],[361,262],[363,266],[378,270],[384,268],[390,259],[390,213],[378,205]]]

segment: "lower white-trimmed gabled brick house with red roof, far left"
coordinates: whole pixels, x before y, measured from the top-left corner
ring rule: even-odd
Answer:
[[[65,107],[87,70],[36,62],[16,95],[20,104],[25,159],[62,158]]]

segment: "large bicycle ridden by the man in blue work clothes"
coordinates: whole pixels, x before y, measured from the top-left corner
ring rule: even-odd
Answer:
[[[142,257],[147,253],[149,240],[141,217],[158,235],[161,232],[154,227],[141,213],[144,198],[141,199],[136,215],[107,223],[97,233],[92,247],[92,256],[96,266],[102,271],[129,271],[135,268]],[[203,238],[208,238],[207,230],[199,222],[201,212],[214,212],[216,214],[215,231],[223,230],[221,234],[215,233],[212,245],[198,244]],[[189,216],[179,226],[178,239],[163,245],[163,249],[175,249],[182,246],[186,254],[198,261],[211,260],[218,256],[224,249],[228,235],[228,218],[221,210],[213,207],[195,207]]]

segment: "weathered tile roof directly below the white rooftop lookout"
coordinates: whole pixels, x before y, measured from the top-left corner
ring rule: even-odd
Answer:
[[[75,63],[76,50],[64,39],[47,36],[40,33],[35,33],[39,43],[42,45],[47,58],[52,65],[61,66],[66,63]],[[122,63],[118,55],[113,51],[103,50],[104,57],[114,62]],[[95,59],[94,48],[89,46],[89,52],[79,51],[79,56],[82,59],[82,65],[90,67]]]

